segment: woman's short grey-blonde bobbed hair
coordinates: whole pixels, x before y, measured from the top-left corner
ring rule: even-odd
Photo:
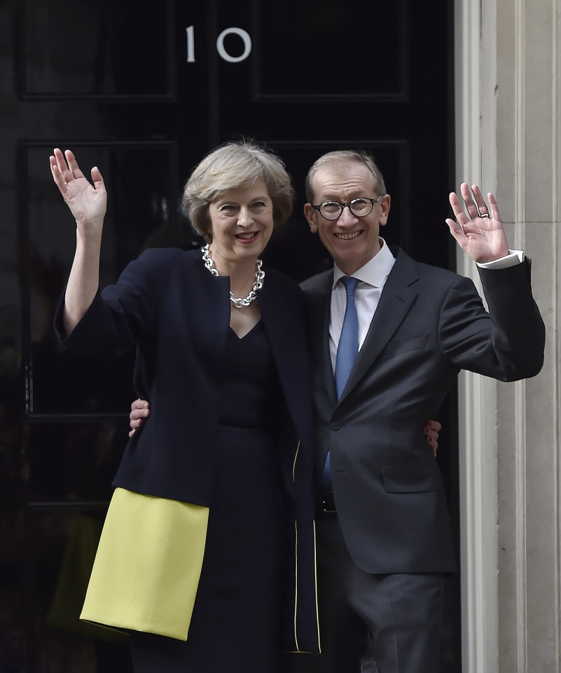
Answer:
[[[191,173],[183,189],[183,211],[193,229],[212,240],[209,205],[230,189],[246,189],[262,179],[272,200],[273,222],[284,224],[292,212],[294,190],[283,161],[249,140],[217,147]]]

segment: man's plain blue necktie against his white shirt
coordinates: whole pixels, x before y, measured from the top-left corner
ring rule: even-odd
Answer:
[[[337,399],[340,398],[345,389],[347,379],[354,367],[356,355],[359,353],[359,317],[356,315],[356,306],[354,305],[354,291],[359,283],[358,278],[352,276],[343,276],[341,283],[347,290],[347,308],[345,308],[345,318],[341,329],[339,346],[337,347],[337,358],[335,358],[335,391]],[[327,454],[324,465],[323,486],[326,491],[331,491],[331,454]]]

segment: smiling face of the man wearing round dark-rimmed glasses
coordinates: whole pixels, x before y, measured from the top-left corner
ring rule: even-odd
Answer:
[[[379,196],[375,191],[374,177],[363,163],[342,163],[317,170],[312,179],[314,205],[324,201],[346,203],[354,198]],[[389,195],[375,203],[366,217],[356,217],[349,208],[344,208],[339,219],[328,220],[314,210],[310,203],[304,206],[304,214],[312,233],[319,233],[335,264],[350,275],[364,266],[380,250],[380,226],[385,226],[389,213]]]

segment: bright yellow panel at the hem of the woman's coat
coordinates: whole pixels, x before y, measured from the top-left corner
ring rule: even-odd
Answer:
[[[80,618],[185,641],[209,510],[116,489]]]

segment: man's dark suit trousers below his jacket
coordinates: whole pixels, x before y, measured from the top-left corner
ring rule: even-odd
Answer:
[[[286,673],[438,673],[445,575],[362,571],[335,513],[317,519],[320,655]]]

